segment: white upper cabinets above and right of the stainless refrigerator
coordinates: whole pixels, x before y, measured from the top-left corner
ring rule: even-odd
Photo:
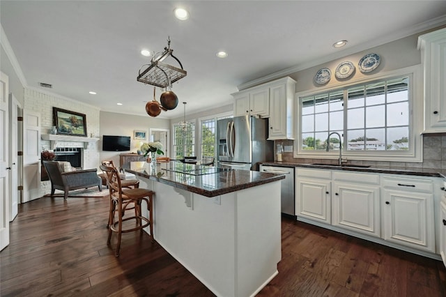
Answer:
[[[294,93],[295,80],[290,77],[233,93],[234,116],[269,118],[268,140],[294,139]]]

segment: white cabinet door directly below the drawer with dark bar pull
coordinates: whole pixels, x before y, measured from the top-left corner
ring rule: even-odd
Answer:
[[[384,239],[435,252],[433,195],[397,190],[383,194]]]

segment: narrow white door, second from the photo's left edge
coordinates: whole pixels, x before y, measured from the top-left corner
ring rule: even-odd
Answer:
[[[10,204],[9,204],[9,220],[14,220],[19,209],[19,188],[18,182],[18,157],[17,157],[17,109],[19,102],[14,97],[13,93],[9,94],[9,162],[11,170],[9,172],[9,189],[10,189]]]

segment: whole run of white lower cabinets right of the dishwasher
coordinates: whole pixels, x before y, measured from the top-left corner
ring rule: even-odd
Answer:
[[[301,168],[295,178],[298,220],[367,234],[401,249],[441,253],[446,264],[446,195],[441,211],[434,211],[440,188],[433,178]]]

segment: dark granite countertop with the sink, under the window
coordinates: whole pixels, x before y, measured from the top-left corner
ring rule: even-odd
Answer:
[[[373,172],[383,174],[405,174],[414,176],[431,176],[446,178],[445,169],[428,169],[428,168],[399,168],[399,167],[355,167],[355,165],[315,165],[312,163],[293,163],[293,162],[262,162],[262,165],[279,166],[279,167],[305,167],[305,168],[317,168],[317,169],[332,169],[332,170],[348,170],[353,172]],[[358,165],[361,166],[361,165]]]

